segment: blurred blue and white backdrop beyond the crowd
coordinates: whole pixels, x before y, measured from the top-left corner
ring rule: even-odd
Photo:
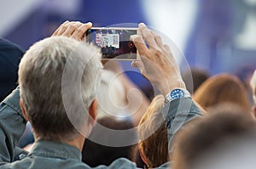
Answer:
[[[94,26],[144,22],[176,42],[190,67],[210,75],[229,72],[245,81],[256,68],[256,0],[0,2],[0,37],[24,49],[65,20],[91,21]],[[127,74],[138,86],[148,85],[139,74]]]

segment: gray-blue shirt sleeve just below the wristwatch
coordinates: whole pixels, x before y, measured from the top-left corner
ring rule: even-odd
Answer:
[[[172,102],[166,104],[162,110],[162,115],[166,122],[168,147],[171,152],[173,135],[183,127],[186,122],[201,116],[202,113],[191,98],[182,98],[172,100]]]

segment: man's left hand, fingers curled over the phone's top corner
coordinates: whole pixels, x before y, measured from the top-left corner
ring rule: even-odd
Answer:
[[[82,24],[81,22],[66,21],[54,32],[52,36],[73,37],[78,41],[84,40],[85,32],[91,28],[90,22]]]

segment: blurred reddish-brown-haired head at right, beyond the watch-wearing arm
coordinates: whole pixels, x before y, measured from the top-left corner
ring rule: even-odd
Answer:
[[[233,103],[245,110],[250,110],[247,92],[241,81],[229,74],[210,77],[193,95],[193,99],[207,110],[209,107],[222,103]]]

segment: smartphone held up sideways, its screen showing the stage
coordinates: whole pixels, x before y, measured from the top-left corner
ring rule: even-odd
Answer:
[[[102,50],[102,59],[137,60],[137,48],[130,40],[138,28],[92,27],[86,31],[86,42]]]

